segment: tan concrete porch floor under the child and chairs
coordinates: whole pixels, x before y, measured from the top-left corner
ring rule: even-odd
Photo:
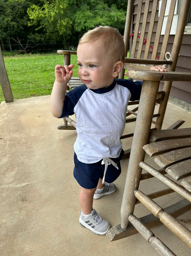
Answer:
[[[62,119],[54,118],[50,96],[2,102],[0,105],[0,255],[1,256],[154,256],[158,255],[140,234],[110,242],[79,224],[80,186],[73,178],[73,143],[76,131],[58,130]],[[178,119],[181,128],[191,127],[191,113],[168,104],[163,129]],[[133,132],[133,124],[128,130]],[[124,149],[131,139],[123,140]],[[111,226],[120,224],[128,160],[121,161],[122,173],[115,193],[94,200],[96,211]],[[145,193],[165,188],[149,179],[140,185]],[[167,196],[166,207],[179,201],[177,193]],[[148,214],[140,204],[136,216]],[[179,216],[191,229],[191,211]],[[179,256],[191,255],[189,248],[164,225],[152,232]]]

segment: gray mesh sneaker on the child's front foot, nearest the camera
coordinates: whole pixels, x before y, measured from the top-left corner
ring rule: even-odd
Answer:
[[[79,221],[82,226],[98,235],[105,235],[110,229],[108,221],[102,219],[94,209],[91,211],[91,216],[87,218],[83,217],[82,211],[80,211]]]

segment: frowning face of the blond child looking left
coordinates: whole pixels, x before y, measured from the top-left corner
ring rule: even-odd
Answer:
[[[101,47],[101,41],[83,43],[77,48],[78,76],[90,89],[112,84],[114,60]]]

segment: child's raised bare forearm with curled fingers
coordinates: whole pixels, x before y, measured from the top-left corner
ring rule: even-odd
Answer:
[[[67,89],[67,83],[70,81],[73,71],[73,65],[55,67],[55,82],[51,93],[51,112],[54,117],[60,117],[63,109],[63,101]]]

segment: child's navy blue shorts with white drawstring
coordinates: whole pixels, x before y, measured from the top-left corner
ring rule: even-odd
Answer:
[[[119,170],[112,164],[108,165],[105,175],[106,182],[111,183],[119,177],[121,173],[120,160],[123,156],[124,150],[122,149],[119,157],[111,158],[111,160],[117,164]],[[75,167],[73,170],[73,176],[82,188],[96,188],[99,179],[103,179],[105,165],[102,165],[101,162],[102,160],[96,163],[82,163],[77,159],[76,153],[74,153]]]

